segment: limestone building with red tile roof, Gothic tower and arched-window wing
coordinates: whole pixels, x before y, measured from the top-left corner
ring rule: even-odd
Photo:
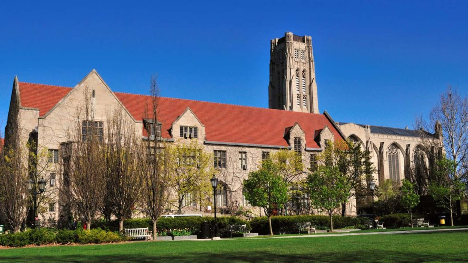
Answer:
[[[268,89],[270,109],[161,97],[158,134],[153,134],[145,115],[151,97],[113,92],[95,70],[74,87],[20,82],[15,77],[5,142],[8,144],[13,121],[18,119],[22,145],[33,141],[35,151],[49,153],[43,165],[49,198],[42,204],[45,209],[40,210],[45,221],[56,220],[60,214],[57,192],[66,176],[64,164],[68,159],[63,149],[70,140],[67,131],[81,125],[82,131],[95,129],[105,141],[109,110],[122,111],[142,141],[148,136],[170,143],[196,140],[213,156],[212,165],[221,185],[217,192],[219,206],[237,203],[257,215],[261,214],[259,208],[251,207],[243,197],[242,182],[264,158],[278,150],[300,153],[307,169],[315,165],[315,155],[323,151],[326,140],[352,139],[371,152],[371,161],[378,169],[374,175],[377,183],[385,179],[399,182],[414,156],[428,150],[421,144],[419,131],[337,123],[326,111],[320,114],[311,37],[286,32],[284,37],[271,40]],[[85,98],[93,108],[92,120],[77,117]],[[441,139],[440,132],[426,135]],[[307,197],[302,201],[307,204]],[[184,206],[186,212],[204,210],[190,197]],[[347,215],[356,215],[355,199],[350,199],[346,207]]]

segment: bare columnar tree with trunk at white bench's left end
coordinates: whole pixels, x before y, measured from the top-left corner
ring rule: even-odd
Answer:
[[[122,109],[109,114],[107,120],[106,185],[110,212],[119,220],[119,231],[124,230],[124,219],[132,213],[139,197],[138,162],[135,153],[139,141],[134,125],[125,118]],[[106,207],[104,205],[103,207]]]

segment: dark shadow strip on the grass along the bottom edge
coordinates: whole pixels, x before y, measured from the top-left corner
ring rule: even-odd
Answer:
[[[403,250],[403,249],[402,249]],[[170,252],[168,252],[170,253]],[[10,256],[0,255],[0,261],[6,262],[423,262],[423,261],[466,261],[466,255],[436,255],[382,249],[365,249],[335,253],[301,254],[291,252],[288,255],[275,254],[271,251],[249,253],[214,254],[190,253],[184,255],[66,255],[66,256]]]

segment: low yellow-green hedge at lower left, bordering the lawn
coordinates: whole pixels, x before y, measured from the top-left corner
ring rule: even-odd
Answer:
[[[92,230],[57,230],[55,228],[32,229],[27,232],[0,234],[0,246],[24,247],[27,245],[45,244],[90,244],[90,243],[113,243],[124,241],[126,238],[117,232],[104,231],[102,229]]]

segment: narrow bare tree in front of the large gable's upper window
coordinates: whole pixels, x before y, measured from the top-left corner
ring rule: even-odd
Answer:
[[[62,145],[64,159],[61,194],[73,212],[91,228],[102,206],[106,189],[103,122],[94,119],[90,90],[84,91],[84,106],[77,108],[75,129],[69,132],[69,143]]]

